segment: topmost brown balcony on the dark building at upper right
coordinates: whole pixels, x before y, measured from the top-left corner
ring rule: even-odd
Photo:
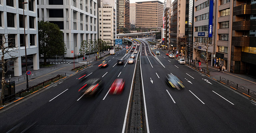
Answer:
[[[233,7],[233,15],[245,15],[251,14],[251,5],[250,4],[240,4],[239,6]]]

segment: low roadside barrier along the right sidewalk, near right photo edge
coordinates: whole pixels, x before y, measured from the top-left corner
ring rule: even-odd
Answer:
[[[256,98],[256,92],[255,91],[252,91],[251,89],[246,88],[242,85],[239,85],[239,84],[237,84],[233,81],[230,81],[229,79],[226,79],[226,78],[220,76],[220,82],[222,82],[223,84],[228,85],[229,87],[233,88],[234,90],[237,90],[237,91],[243,93],[244,95],[247,95],[249,97],[253,97],[254,99]]]

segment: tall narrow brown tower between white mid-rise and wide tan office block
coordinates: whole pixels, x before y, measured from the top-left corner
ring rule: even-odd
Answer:
[[[117,28],[130,28],[130,0],[116,0]]]

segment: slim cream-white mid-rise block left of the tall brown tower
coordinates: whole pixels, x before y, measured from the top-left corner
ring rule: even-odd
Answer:
[[[101,0],[98,14],[99,38],[114,43],[111,40],[116,39],[116,0]]]

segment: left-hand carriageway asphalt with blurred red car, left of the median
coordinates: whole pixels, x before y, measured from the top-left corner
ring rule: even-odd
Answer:
[[[139,46],[136,46],[136,50],[139,51]],[[135,63],[125,62],[120,66],[116,63],[121,58],[129,59],[132,53],[128,51],[126,54],[124,49],[117,51],[115,55],[93,62],[85,70],[0,113],[0,131],[122,132]],[[103,61],[109,62],[109,66],[99,68]],[[78,93],[83,82],[77,78],[85,71],[88,75],[86,80],[101,78],[104,82],[103,91],[97,97],[81,97]],[[116,78],[125,80],[124,91],[121,95],[108,94]]]

